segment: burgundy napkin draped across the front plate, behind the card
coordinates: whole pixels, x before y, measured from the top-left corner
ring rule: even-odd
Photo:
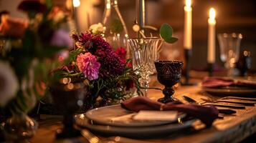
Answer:
[[[121,107],[131,110],[133,112],[139,112],[141,110],[174,110],[189,114],[191,117],[200,119],[207,127],[212,126],[212,122],[218,117],[218,109],[214,106],[202,107],[196,104],[181,104],[169,102],[162,104],[160,102],[153,102],[147,97],[134,97],[121,103]]]

